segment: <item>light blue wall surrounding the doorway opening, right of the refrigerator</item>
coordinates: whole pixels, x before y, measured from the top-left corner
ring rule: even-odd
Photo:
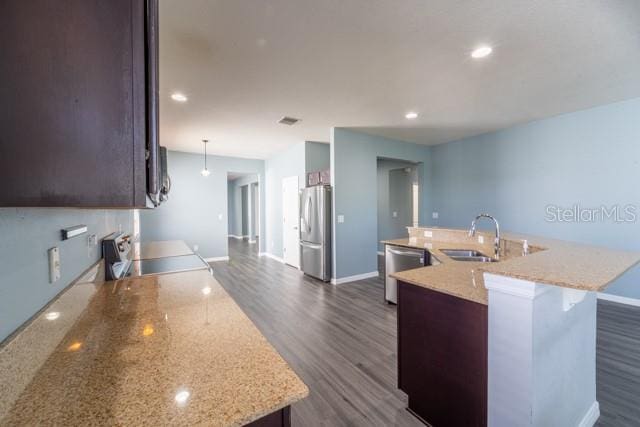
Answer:
[[[430,147],[334,128],[331,141],[334,183],[334,277],[371,273],[377,265],[377,160],[420,162],[420,215],[429,209]],[[337,215],[345,222],[337,223]]]

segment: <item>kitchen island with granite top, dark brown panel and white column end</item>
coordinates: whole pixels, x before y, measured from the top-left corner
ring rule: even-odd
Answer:
[[[392,274],[409,409],[434,425],[593,425],[596,293],[640,254],[518,234],[503,235],[499,262],[442,252],[493,254],[479,240],[493,236],[410,227],[408,238],[384,242],[438,261]]]

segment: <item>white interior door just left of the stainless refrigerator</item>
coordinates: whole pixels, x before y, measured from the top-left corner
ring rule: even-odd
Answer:
[[[282,252],[286,264],[300,268],[300,198],[298,177],[282,180]]]

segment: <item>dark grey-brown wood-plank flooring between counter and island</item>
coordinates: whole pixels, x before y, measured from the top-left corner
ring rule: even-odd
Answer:
[[[229,240],[214,275],[309,386],[294,426],[421,426],[396,383],[396,308],[383,281],[332,286]],[[640,308],[598,303],[598,426],[640,426]]]

